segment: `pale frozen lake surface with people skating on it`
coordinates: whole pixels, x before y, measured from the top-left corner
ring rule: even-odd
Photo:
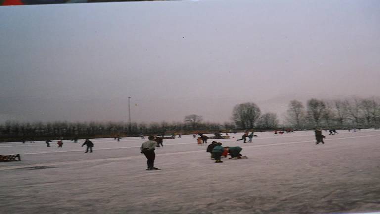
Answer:
[[[158,171],[146,171],[140,137],[0,143],[1,214],[325,214],[380,211],[380,131],[326,136],[313,131],[257,132],[241,146],[248,159],[214,163],[190,135],[156,149]],[[213,136],[212,134],[207,134]],[[209,140],[208,143],[211,143]]]

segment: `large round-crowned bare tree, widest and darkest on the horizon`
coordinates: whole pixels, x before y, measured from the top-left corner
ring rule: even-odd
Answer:
[[[232,119],[237,126],[243,129],[252,129],[260,117],[260,114],[261,110],[255,103],[242,103],[234,107]]]

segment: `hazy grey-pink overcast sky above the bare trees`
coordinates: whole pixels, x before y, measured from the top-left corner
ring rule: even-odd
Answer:
[[[378,0],[0,7],[0,122],[231,121],[256,103],[378,96]]]

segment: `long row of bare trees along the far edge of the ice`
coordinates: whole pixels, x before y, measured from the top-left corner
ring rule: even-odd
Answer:
[[[276,113],[261,113],[251,102],[237,104],[232,110],[231,121],[207,122],[201,115],[191,114],[183,122],[17,122],[0,124],[1,139],[6,137],[106,137],[137,136],[140,133],[167,135],[174,133],[226,132],[229,130],[274,130],[279,127],[307,129],[323,128],[378,128],[380,124],[379,98],[346,98],[322,100],[312,98],[304,105],[292,100],[283,124]]]

